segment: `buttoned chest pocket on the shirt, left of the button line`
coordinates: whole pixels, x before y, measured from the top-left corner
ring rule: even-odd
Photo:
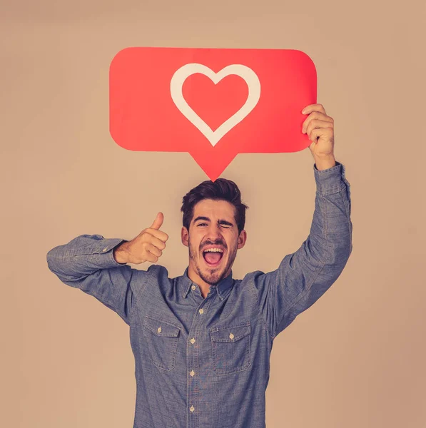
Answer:
[[[163,370],[172,370],[175,367],[180,332],[181,327],[171,322],[145,315],[143,335],[153,365]]]

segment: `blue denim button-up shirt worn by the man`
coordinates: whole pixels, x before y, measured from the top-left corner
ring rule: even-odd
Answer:
[[[338,279],[352,252],[345,166],[313,165],[308,238],[273,272],[211,285],[206,298],[183,275],[117,263],[120,238],[80,235],[47,253],[66,285],[96,297],[130,327],[135,357],[133,428],[262,428],[273,340]]]

